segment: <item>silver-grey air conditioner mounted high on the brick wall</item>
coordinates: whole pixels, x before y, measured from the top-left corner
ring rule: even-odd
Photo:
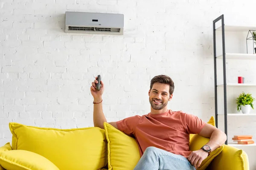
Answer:
[[[123,14],[66,11],[66,33],[122,35],[123,28]]]

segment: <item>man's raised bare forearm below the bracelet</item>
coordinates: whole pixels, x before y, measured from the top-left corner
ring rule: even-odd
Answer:
[[[94,99],[94,102],[99,103],[102,98]],[[105,115],[103,113],[102,102],[99,104],[93,104],[93,124],[94,127],[99,127],[104,129],[103,123],[107,122]]]

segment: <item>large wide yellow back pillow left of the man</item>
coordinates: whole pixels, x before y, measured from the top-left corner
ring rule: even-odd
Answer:
[[[12,149],[44,156],[61,170],[98,170],[106,162],[105,130],[56,129],[9,123]]]

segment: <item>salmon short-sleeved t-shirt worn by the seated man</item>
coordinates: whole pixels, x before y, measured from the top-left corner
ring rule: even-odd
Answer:
[[[195,115],[168,110],[160,114],[131,116],[116,125],[122,132],[135,137],[140,156],[147,147],[154,146],[188,158],[191,153],[189,134],[200,133],[206,123]]]

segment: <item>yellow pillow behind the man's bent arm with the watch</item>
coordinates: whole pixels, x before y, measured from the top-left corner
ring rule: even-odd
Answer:
[[[212,116],[211,119],[209,120],[209,122],[207,122],[208,124],[215,126],[215,120],[214,117]],[[204,146],[207,142],[209,142],[209,138],[200,136],[198,134],[194,134],[192,136],[192,138],[190,139],[189,142],[189,150],[194,151],[194,150],[199,150],[202,146]],[[200,167],[197,168],[197,170],[205,170],[207,168],[207,166],[211,163],[211,161],[218,156],[218,154],[221,153],[221,151],[223,150],[224,145],[222,145],[221,147],[218,147],[217,149],[213,150],[210,155],[204,159],[204,161],[202,161]]]

